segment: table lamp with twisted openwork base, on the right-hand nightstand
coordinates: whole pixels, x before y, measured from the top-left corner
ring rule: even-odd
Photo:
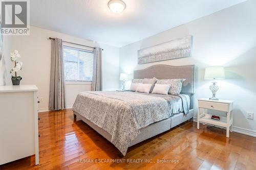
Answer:
[[[219,90],[219,87],[216,85],[216,79],[225,79],[224,67],[223,66],[211,66],[205,68],[205,80],[214,80],[210,86],[212,92],[212,97],[210,100],[219,100],[216,98],[216,92]]]

